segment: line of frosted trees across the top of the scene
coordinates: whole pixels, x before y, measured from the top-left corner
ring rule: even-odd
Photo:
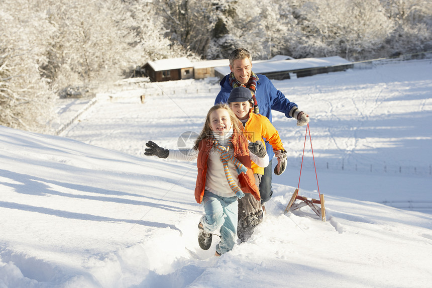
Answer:
[[[47,132],[59,95],[104,89],[149,60],[239,47],[255,60],[421,56],[431,28],[428,0],[2,0],[0,124]]]

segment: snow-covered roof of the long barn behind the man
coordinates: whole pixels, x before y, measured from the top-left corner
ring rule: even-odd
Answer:
[[[280,61],[264,61],[252,62],[252,71],[257,74],[277,72],[277,71],[292,71],[315,67],[327,67],[350,64],[351,62],[339,56],[323,57],[323,58],[302,58],[302,59],[289,59]],[[230,67],[217,67],[214,70],[223,75],[231,72]]]

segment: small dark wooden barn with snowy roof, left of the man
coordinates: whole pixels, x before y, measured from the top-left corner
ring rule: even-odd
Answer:
[[[149,61],[143,69],[152,82],[193,78],[193,64],[186,57]]]

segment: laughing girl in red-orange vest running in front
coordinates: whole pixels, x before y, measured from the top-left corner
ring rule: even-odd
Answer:
[[[260,201],[260,194],[251,170],[251,159],[266,167],[269,159],[262,143],[250,143],[243,127],[226,104],[213,106],[207,113],[204,127],[190,150],[167,150],[154,142],[146,143],[145,155],[180,160],[197,159],[195,200],[202,204],[204,215],[198,228],[199,246],[210,248],[212,234],[220,234],[215,255],[233,249],[237,231],[237,199],[251,194]],[[259,151],[262,157],[249,154]],[[264,152],[263,152],[264,151]]]

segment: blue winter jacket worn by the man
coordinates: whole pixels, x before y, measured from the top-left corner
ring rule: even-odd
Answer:
[[[257,88],[255,90],[255,97],[258,102],[258,108],[260,110],[260,114],[267,117],[270,122],[271,119],[271,111],[276,110],[285,114],[286,117],[292,118],[289,115],[289,111],[293,107],[297,107],[297,104],[294,102],[290,102],[285,95],[276,89],[273,83],[269,78],[262,74],[257,74],[259,80],[257,82]],[[221,91],[219,91],[214,104],[218,103],[227,103],[228,98],[230,97],[231,90],[233,87],[230,85],[230,74],[226,75],[220,82]],[[273,147],[266,141],[266,150],[269,155],[270,160],[273,158]]]

